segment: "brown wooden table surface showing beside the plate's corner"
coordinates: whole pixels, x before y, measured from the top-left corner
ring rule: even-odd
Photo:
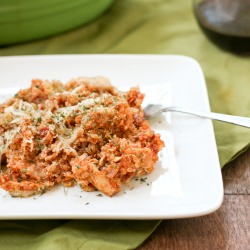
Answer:
[[[138,250],[250,249],[250,149],[222,170],[224,201],[216,212],[164,220]]]

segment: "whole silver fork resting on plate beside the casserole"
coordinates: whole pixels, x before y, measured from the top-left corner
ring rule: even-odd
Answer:
[[[143,111],[144,111],[145,119],[148,119],[148,120],[159,116],[163,112],[181,112],[181,113],[196,115],[196,116],[200,116],[204,118],[209,118],[209,119],[218,120],[222,122],[228,122],[228,123],[250,128],[249,117],[225,115],[225,114],[219,114],[219,113],[214,113],[214,112],[193,111],[190,109],[174,107],[174,106],[164,107],[159,104],[149,104],[143,109]]]

